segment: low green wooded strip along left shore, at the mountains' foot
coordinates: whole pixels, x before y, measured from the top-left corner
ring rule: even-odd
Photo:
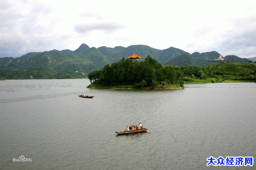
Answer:
[[[0,70],[0,77],[4,79],[71,79],[85,78],[73,72],[60,72],[49,69],[29,68],[21,70]]]

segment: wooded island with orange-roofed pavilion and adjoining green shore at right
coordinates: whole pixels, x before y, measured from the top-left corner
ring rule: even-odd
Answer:
[[[256,82],[256,64],[219,62],[206,66],[161,65],[151,56],[135,53],[89,73],[87,88],[182,89],[184,83]]]

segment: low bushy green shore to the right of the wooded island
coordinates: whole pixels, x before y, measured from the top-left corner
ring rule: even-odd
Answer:
[[[184,72],[186,83],[219,82],[255,82],[256,64],[249,63],[215,63],[207,66],[180,67]]]

